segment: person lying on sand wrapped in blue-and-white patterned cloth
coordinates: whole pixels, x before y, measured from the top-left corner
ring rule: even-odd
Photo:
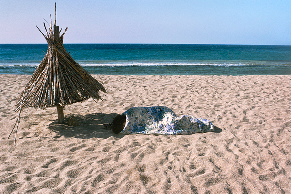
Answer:
[[[209,120],[191,115],[178,117],[165,106],[132,107],[117,115],[109,126],[116,134],[178,135],[215,130]]]

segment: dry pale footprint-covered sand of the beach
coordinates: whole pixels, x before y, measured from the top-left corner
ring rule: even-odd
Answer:
[[[66,124],[55,107],[30,108],[13,146],[15,98],[30,76],[0,75],[1,194],[291,193],[291,75],[94,77],[108,90],[103,102],[66,106]],[[217,132],[103,128],[130,107],[158,105]]]

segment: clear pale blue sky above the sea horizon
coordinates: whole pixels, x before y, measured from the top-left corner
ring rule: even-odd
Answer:
[[[291,45],[291,0],[0,0],[0,43],[46,43],[55,2],[64,43]]]

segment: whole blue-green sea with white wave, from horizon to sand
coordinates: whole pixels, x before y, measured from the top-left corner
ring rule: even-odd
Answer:
[[[291,74],[291,46],[64,44],[64,47],[91,74]],[[0,74],[32,75],[47,49],[47,44],[0,44]]]

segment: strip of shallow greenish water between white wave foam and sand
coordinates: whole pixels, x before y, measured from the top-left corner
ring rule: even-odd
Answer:
[[[112,64],[111,64],[112,65]],[[290,65],[243,65],[239,64],[185,64],[185,65],[125,65],[83,66],[92,75],[162,75],[162,76],[246,76],[291,75]],[[0,66],[0,75],[32,75],[33,66]]]

